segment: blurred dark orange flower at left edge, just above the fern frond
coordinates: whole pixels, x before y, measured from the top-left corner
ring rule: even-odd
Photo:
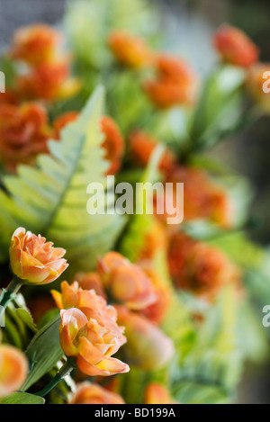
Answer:
[[[38,103],[0,104],[0,160],[12,172],[48,152],[48,117]]]

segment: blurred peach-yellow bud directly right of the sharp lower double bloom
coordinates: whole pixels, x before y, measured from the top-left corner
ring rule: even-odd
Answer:
[[[128,343],[124,353],[129,362],[146,371],[157,371],[173,357],[172,340],[145,317],[123,306],[115,307],[120,323],[126,328]]]

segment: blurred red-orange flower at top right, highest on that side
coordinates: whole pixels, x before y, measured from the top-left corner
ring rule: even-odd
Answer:
[[[213,41],[215,48],[226,63],[240,67],[250,67],[257,62],[259,49],[238,28],[222,25],[215,34]]]

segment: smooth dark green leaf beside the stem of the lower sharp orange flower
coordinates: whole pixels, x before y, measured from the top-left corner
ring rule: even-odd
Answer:
[[[38,331],[27,347],[25,354],[31,363],[31,370],[22,391],[27,391],[63,357],[64,352],[59,343],[59,323],[58,315]]]

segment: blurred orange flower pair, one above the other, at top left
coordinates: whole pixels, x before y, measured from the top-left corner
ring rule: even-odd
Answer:
[[[77,79],[70,76],[70,58],[61,53],[61,35],[45,24],[24,27],[14,34],[10,56],[23,62],[15,91],[23,100],[57,101],[76,94]]]

